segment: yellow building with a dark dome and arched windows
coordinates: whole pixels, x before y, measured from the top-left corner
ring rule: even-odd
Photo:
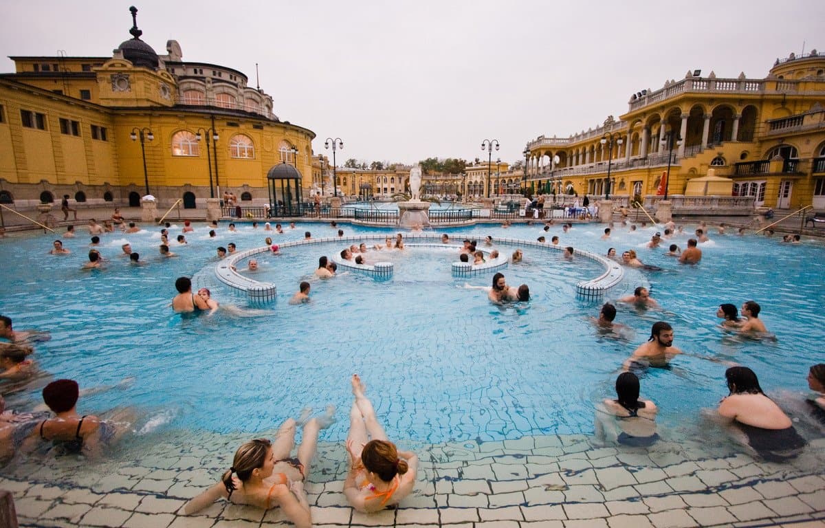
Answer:
[[[300,173],[307,199],[314,132],[281,121],[238,70],[186,62],[176,40],[158,55],[136,21],[130,34],[111,57],[11,57],[15,73],[0,75],[0,203],[68,195],[138,206],[151,194],[162,207],[200,208],[230,191],[263,205],[281,163]]]

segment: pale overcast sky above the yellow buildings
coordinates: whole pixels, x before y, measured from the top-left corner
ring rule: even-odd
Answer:
[[[260,64],[274,111],[340,137],[346,158],[514,162],[526,142],[567,137],[628,110],[633,92],[687,70],[764,78],[777,57],[825,51],[825,2],[417,0],[3,0],[7,55],[111,56],[130,38],[129,6],[158,54],[247,74]],[[329,151],[331,154],[331,151]]]

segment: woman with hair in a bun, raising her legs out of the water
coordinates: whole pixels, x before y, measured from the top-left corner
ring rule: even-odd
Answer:
[[[344,495],[351,507],[370,513],[398,504],[413,491],[418,457],[411,451],[397,450],[387,441],[364,391],[361,378],[353,375],[352,394],[356,399],[350,411],[350,473],[344,482]],[[367,441],[369,437],[372,440]]]

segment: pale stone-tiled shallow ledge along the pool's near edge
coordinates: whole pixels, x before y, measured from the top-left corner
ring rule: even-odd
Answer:
[[[277,509],[227,502],[183,516],[186,500],[229,467],[239,439],[208,447],[192,440],[153,442],[151,456],[146,446],[127,447],[117,461],[92,465],[64,458],[7,466],[0,488],[13,493],[20,526],[291,526]],[[397,510],[366,516],[342,494],[343,446],[320,445],[306,486],[314,526],[825,526],[825,440],[787,464],[733,451],[711,456],[698,444],[596,447],[583,435],[404,447],[421,457],[415,492]]]

